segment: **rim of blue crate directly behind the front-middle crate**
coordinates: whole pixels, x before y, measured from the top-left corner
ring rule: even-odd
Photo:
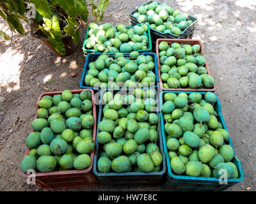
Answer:
[[[88,65],[88,61],[89,61],[89,58],[91,55],[103,55],[104,53],[103,52],[95,52],[95,53],[89,53],[88,55],[86,55],[86,59],[85,59],[85,62],[84,62],[84,68],[83,68],[83,73],[82,73],[82,76],[81,76],[81,80],[80,80],[80,87],[82,89],[93,89],[95,91],[106,91],[106,90],[113,90],[113,91],[122,91],[122,90],[132,90],[132,89],[97,89],[97,88],[94,88],[94,87],[88,87],[88,86],[84,86],[83,83],[84,83],[84,78],[86,77],[87,75],[87,72],[88,72],[88,69],[87,69],[87,65]],[[147,89],[147,88],[154,88],[156,89],[157,86],[158,86],[158,83],[159,83],[159,77],[158,77],[158,73],[157,73],[157,55],[156,53],[154,52],[140,52],[140,55],[143,55],[143,54],[147,54],[147,55],[153,55],[154,57],[154,64],[155,64],[155,68],[154,68],[154,74],[156,75],[156,85],[154,85],[154,87],[142,87],[142,89]],[[110,57],[115,57],[115,54],[108,54]],[[129,57],[129,54],[124,54],[124,57]]]

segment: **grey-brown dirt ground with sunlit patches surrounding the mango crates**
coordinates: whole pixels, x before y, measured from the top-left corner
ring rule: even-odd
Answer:
[[[104,20],[130,25],[129,13],[145,0],[110,1]],[[216,94],[221,102],[236,156],[241,160],[244,180],[227,191],[256,191],[256,3],[254,0],[179,0],[175,10],[198,18],[193,38],[204,43]],[[3,21],[0,27],[3,26]],[[42,191],[26,184],[20,161],[26,152],[25,139],[35,117],[35,104],[44,87],[52,91],[79,89],[84,55],[83,39],[68,57],[56,57],[41,43],[15,34],[13,42],[0,43],[0,191]],[[76,72],[75,77],[70,73]],[[10,114],[9,114],[10,113]],[[19,118],[19,120],[17,120]],[[83,187],[70,191],[161,191],[160,187],[104,189]],[[67,191],[67,190],[63,190]]]

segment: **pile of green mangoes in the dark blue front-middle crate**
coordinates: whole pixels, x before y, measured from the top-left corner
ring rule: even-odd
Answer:
[[[125,96],[104,93],[106,105],[97,134],[99,172],[161,171],[163,156],[157,145],[159,117],[154,113],[154,98],[155,92],[150,89],[134,89],[133,94]]]

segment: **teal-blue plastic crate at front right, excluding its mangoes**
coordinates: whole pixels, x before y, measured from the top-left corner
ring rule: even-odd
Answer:
[[[159,94],[159,103],[160,108],[163,106],[163,94],[165,93],[175,93],[179,94],[180,92],[185,92],[186,94],[191,94],[193,92],[189,91],[162,91]],[[198,92],[205,95],[206,92]],[[216,103],[214,104],[214,110],[218,113],[217,119],[223,126],[223,129],[227,130],[227,126],[223,119],[223,115],[221,113],[221,104],[219,99],[217,98]],[[167,164],[167,177],[166,180],[161,184],[161,188],[163,191],[223,191],[228,187],[234,186],[235,184],[241,182],[244,179],[244,173],[241,161],[237,159],[235,151],[234,151],[234,159],[232,162],[236,164],[237,171],[239,173],[239,177],[237,179],[228,179],[227,184],[220,184],[218,178],[214,177],[191,177],[187,175],[176,175],[172,172],[170,159],[168,157],[168,149],[166,147],[166,138],[165,138],[165,131],[164,131],[164,119],[163,119],[163,112],[160,113],[161,117],[161,130],[163,136],[163,145],[164,145],[164,152],[166,156],[166,164]],[[229,138],[229,144],[234,149],[234,146]]]

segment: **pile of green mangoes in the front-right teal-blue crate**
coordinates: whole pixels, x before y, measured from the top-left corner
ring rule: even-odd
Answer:
[[[173,173],[193,177],[220,177],[227,170],[228,179],[237,179],[232,163],[234,150],[230,135],[217,119],[216,94],[206,92],[165,93],[162,106],[166,147]]]

